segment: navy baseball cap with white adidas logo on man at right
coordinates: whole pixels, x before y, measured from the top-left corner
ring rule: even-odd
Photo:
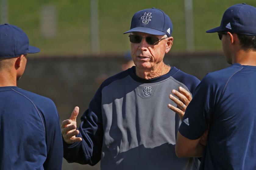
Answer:
[[[206,31],[232,32],[256,36],[256,8],[246,3],[229,7],[223,14],[219,27]]]

